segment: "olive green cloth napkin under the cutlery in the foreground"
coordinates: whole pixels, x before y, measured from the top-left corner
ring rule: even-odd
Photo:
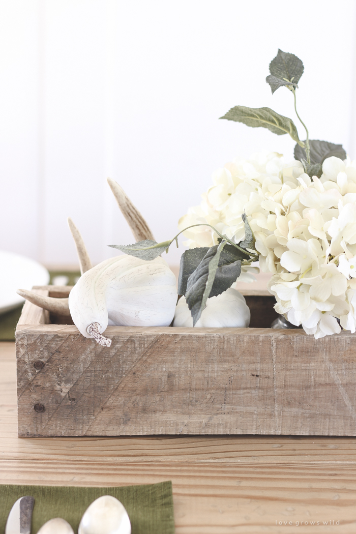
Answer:
[[[35,498],[31,534],[53,517],[62,517],[74,532],[86,508],[102,495],[112,495],[122,502],[129,514],[132,534],[174,534],[172,482],[118,488],[76,486],[0,485],[0,534],[11,507],[25,495]]]

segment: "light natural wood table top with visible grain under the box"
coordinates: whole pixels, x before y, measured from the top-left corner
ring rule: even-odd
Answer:
[[[354,437],[18,438],[16,403],[15,345],[2,342],[2,484],[172,480],[176,534],[356,532]]]

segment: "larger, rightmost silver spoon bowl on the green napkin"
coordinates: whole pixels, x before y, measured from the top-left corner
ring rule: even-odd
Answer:
[[[128,513],[115,497],[99,497],[84,512],[78,534],[131,534]]]

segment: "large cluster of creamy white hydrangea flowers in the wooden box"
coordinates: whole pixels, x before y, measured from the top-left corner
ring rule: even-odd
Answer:
[[[317,339],[356,331],[356,160],[328,158],[322,170],[310,178],[300,161],[275,152],[235,159],[179,221],[181,230],[208,223],[240,242],[246,213],[260,268],[273,274],[276,311]],[[207,226],[184,235],[189,247],[217,244]],[[252,269],[242,269],[246,281]]]

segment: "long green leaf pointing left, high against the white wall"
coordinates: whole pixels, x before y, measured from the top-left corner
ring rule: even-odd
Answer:
[[[290,137],[294,139],[298,144],[304,146],[304,143],[300,141],[296,125],[288,117],[279,115],[273,109],[269,107],[246,107],[235,106],[230,109],[220,119],[227,119],[228,121],[243,122],[247,126],[252,128],[262,127],[268,128],[271,132],[277,135],[284,135],[289,133]]]

